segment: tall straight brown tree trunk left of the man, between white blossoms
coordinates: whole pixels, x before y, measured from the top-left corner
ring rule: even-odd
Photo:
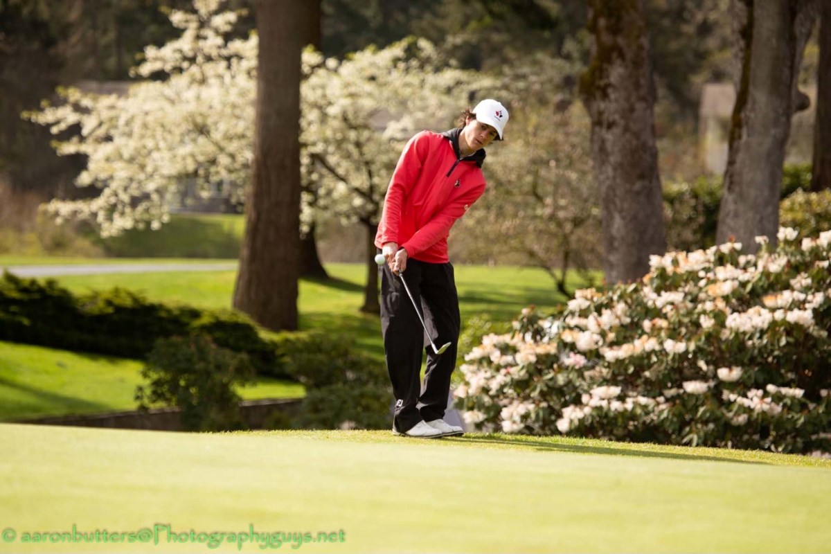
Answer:
[[[259,0],[253,178],[234,307],[297,329],[300,267],[300,52],[307,2]]]

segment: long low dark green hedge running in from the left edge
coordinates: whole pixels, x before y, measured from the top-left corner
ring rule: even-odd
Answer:
[[[0,340],[142,359],[158,339],[193,332],[248,353],[260,375],[288,376],[275,346],[242,314],[150,302],[120,288],[74,296],[53,280],[0,279]]]

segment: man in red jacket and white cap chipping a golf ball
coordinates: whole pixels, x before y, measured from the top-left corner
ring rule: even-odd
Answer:
[[[395,434],[436,438],[462,434],[443,419],[459,340],[459,297],[447,237],[453,223],[484,192],[484,147],[502,140],[508,110],[494,100],[465,110],[460,128],[422,131],[404,148],[390,188],[375,245],[386,258],[381,275],[381,332],[386,368],[396,396]],[[441,355],[427,352],[421,392],[424,331],[397,273],[406,282],[436,342],[450,341]]]

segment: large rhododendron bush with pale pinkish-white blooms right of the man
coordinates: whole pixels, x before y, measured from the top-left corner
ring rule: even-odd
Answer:
[[[831,231],[653,256],[642,282],[524,310],[465,356],[476,429],[831,452]]]

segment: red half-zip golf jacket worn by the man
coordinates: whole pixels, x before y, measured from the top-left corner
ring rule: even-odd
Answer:
[[[459,133],[421,131],[404,147],[386,191],[376,247],[397,243],[421,262],[450,261],[450,228],[485,187],[484,150],[460,158]]]

